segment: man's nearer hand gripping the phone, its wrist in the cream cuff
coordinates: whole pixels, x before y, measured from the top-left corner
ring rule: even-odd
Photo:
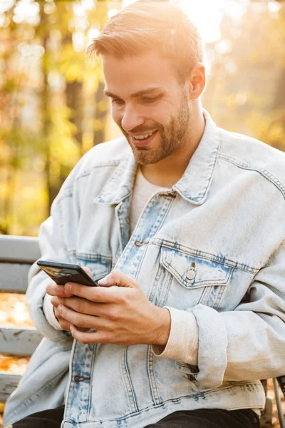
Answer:
[[[73,297],[56,297],[59,316],[69,322],[76,340],[82,343],[166,345],[170,313],[166,308],[152,305],[138,282],[122,272],[113,271],[98,283],[100,287],[67,282],[64,289]],[[76,326],[96,331],[82,332]]]

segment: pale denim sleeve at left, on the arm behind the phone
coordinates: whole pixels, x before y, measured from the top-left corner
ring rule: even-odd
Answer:
[[[71,260],[71,251],[70,249],[68,250],[66,237],[63,231],[63,221],[72,221],[73,233],[76,234],[76,224],[79,218],[79,204],[76,202],[75,178],[80,168],[81,161],[79,161],[71,174],[68,175],[60,192],[55,200],[53,200],[51,205],[51,216],[40,226],[38,234],[41,249],[40,260],[73,263],[73,260]],[[66,209],[65,213],[63,213],[66,200],[68,200],[68,210]],[[70,220],[71,218],[72,220]],[[43,300],[46,295],[46,285],[49,282],[51,282],[51,278],[34,263],[28,272],[28,289],[26,292],[28,309],[31,314],[31,319],[33,320],[33,325],[43,336],[53,341],[65,340],[70,333],[65,330],[56,330],[52,327],[43,312]]]

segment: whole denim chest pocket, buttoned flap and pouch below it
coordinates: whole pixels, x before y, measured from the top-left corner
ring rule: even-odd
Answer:
[[[217,308],[233,267],[197,255],[162,248],[160,265],[169,272],[162,305],[185,310],[198,303]],[[166,278],[165,278],[166,279]]]

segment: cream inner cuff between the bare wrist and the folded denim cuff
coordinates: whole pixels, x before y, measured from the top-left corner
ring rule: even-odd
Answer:
[[[170,336],[165,347],[152,345],[157,357],[171,358],[197,365],[198,362],[198,325],[192,312],[165,306],[170,312]]]

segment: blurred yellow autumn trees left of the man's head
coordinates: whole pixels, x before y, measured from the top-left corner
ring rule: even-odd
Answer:
[[[0,11],[0,233],[36,235],[73,165],[104,140],[100,61],[85,51],[114,4],[9,0],[3,22]]]

